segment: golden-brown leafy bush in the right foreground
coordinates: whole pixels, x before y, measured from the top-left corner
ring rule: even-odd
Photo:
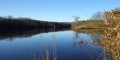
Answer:
[[[120,10],[105,13],[104,20],[108,28],[104,31],[104,38],[99,44],[104,47],[106,53],[112,53],[112,59],[109,60],[120,60]]]

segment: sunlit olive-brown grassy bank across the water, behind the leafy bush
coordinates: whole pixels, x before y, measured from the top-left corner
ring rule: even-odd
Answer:
[[[103,29],[105,24],[103,20],[86,20],[72,23],[72,29]]]

